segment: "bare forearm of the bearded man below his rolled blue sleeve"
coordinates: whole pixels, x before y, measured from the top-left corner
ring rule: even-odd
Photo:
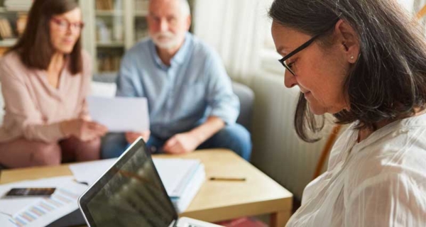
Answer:
[[[204,141],[208,140],[214,134],[219,132],[222,128],[225,127],[225,122],[222,118],[217,116],[210,116],[207,118],[207,121],[202,123],[202,125],[197,128],[192,129],[190,133],[197,138],[200,144],[204,143]]]

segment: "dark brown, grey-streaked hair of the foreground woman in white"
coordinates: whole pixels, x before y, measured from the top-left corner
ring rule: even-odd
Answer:
[[[359,35],[361,55],[344,82],[349,111],[334,114],[337,123],[376,130],[378,122],[415,114],[426,105],[426,45],[416,23],[395,1],[275,0],[269,11],[273,21],[309,35],[325,34],[336,18],[349,23]],[[305,98],[295,112],[296,132],[313,142],[310,133],[322,130]]]

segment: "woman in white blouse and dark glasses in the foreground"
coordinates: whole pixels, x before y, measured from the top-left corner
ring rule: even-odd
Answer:
[[[426,226],[426,44],[394,0],[275,0],[285,87],[302,140],[351,126],[288,226]]]

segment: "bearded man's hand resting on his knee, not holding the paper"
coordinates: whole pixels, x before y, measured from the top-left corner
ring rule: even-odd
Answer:
[[[167,140],[163,150],[165,153],[180,155],[191,153],[200,144],[200,140],[192,133],[180,133]]]

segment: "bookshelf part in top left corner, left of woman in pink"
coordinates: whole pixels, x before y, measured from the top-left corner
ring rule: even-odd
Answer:
[[[23,33],[31,0],[0,0],[0,56]]]

